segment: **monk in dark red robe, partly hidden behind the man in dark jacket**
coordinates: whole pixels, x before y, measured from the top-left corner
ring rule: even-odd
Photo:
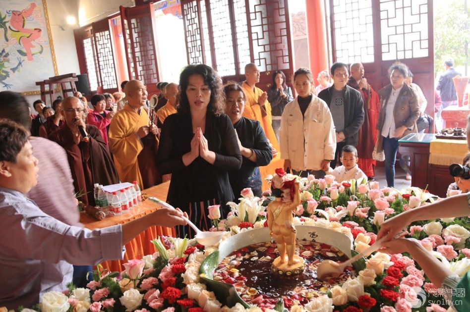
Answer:
[[[350,67],[351,76],[348,85],[360,92],[364,103],[364,123],[359,129],[359,141],[357,143],[357,165],[368,176],[374,176],[376,161],[372,158],[375,143],[377,142],[377,125],[380,111],[380,97],[364,78],[364,66],[361,63],[353,63]]]

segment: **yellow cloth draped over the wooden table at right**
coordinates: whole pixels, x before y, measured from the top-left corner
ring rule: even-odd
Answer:
[[[467,140],[436,139],[429,146],[429,163],[443,166],[462,163],[467,153]]]

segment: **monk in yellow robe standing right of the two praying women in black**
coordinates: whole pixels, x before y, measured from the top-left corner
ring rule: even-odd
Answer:
[[[246,80],[241,84],[246,95],[243,116],[258,120],[261,127],[263,127],[266,137],[273,146],[273,159],[267,166],[259,167],[261,180],[263,181],[262,188],[263,190],[267,190],[268,184],[264,178],[268,174],[273,174],[276,168],[281,168],[284,161],[281,159],[280,154],[277,153],[277,151],[279,151],[279,143],[272,125],[271,104],[268,102],[268,94],[256,87],[256,83],[259,82],[259,76],[259,69],[255,64],[249,63],[245,66]]]

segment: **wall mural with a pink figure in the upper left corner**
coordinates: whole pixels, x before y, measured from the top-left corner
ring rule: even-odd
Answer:
[[[39,94],[57,75],[46,0],[0,0],[0,91]]]

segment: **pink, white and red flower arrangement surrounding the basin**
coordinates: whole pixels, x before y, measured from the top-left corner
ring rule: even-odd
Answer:
[[[268,179],[272,177],[268,177]],[[315,225],[348,235],[355,251],[373,244],[381,224],[405,210],[426,205],[438,198],[419,188],[398,191],[379,188],[377,182],[344,181],[334,177],[299,178],[301,204],[294,225]],[[220,219],[219,207],[212,207],[215,228],[225,229],[223,239],[252,228],[267,226],[265,206],[269,198],[254,197],[249,189],[242,192],[239,204],[228,203],[232,212]],[[269,195],[269,192],[264,194]],[[470,269],[470,231],[468,218],[414,222],[408,237],[420,241],[453,273],[463,276]],[[199,282],[202,261],[217,246],[198,245],[194,240],[158,238],[156,252],[142,260],[130,260],[124,270],[98,270],[86,289],[70,287],[63,294],[46,293],[41,298],[41,311],[261,311],[245,310],[241,305],[222,307],[213,292]],[[376,252],[369,256],[355,278],[312,298],[303,307],[292,300],[291,311],[404,312],[445,311],[433,302],[443,302],[442,294],[424,276],[420,267],[406,254],[387,255]],[[264,307],[263,311],[284,311],[284,305]],[[24,309],[23,311],[28,311]],[[31,310],[29,310],[31,311]]]

